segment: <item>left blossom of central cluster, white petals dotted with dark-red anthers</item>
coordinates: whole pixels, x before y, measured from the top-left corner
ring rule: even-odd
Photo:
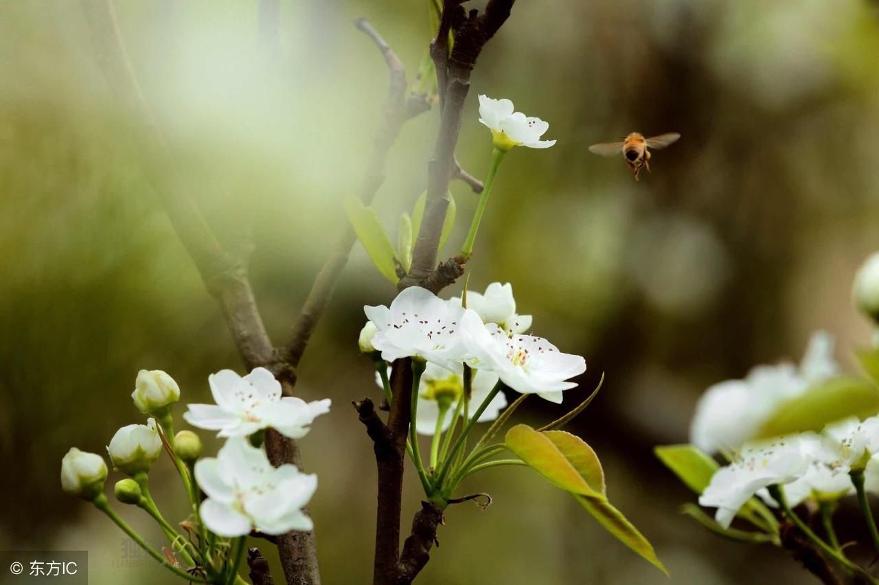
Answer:
[[[390,307],[363,307],[378,329],[373,346],[381,358],[420,358],[447,369],[466,357],[458,332],[464,309],[440,300],[420,286],[410,286],[396,295]]]

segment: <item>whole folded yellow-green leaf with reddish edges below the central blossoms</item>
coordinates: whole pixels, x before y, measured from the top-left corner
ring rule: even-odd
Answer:
[[[569,492],[614,537],[663,573],[653,546],[621,511],[607,502],[604,471],[583,439],[563,430],[538,432],[519,424],[506,434],[505,446],[550,483]]]

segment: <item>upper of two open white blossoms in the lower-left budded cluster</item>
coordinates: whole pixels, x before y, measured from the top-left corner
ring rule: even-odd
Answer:
[[[243,437],[272,428],[291,438],[305,437],[316,416],[330,412],[330,399],[306,402],[281,396],[280,382],[265,368],[254,368],[243,378],[221,370],[207,378],[216,404],[189,404],[183,418],[219,437]]]

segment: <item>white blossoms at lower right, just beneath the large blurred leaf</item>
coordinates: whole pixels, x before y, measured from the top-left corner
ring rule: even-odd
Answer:
[[[879,491],[879,418],[832,423],[820,434],[799,433],[743,445],[719,469],[699,503],[716,508],[724,528],[753,495],[776,505],[766,488],[783,486],[788,504],[834,501],[854,492],[850,473],[865,473],[865,488]]]

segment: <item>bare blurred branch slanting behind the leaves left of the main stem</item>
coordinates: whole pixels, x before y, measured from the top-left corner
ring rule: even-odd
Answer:
[[[385,97],[381,108],[381,121],[373,134],[372,155],[360,187],[360,200],[365,205],[369,205],[376,191],[384,183],[385,162],[390,148],[403,129],[403,123],[418,113],[425,112],[430,105],[422,97],[412,96],[406,99],[406,73],[403,63],[366,20],[360,19],[356,24],[374,41],[390,70],[388,96]],[[336,246],[318,272],[314,285],[311,286],[309,296],[290,332],[289,342],[283,350],[285,361],[293,368],[299,365],[309,339],[315,331],[317,321],[330,304],[338,277],[348,262],[354,242],[357,242],[357,236],[354,235],[351,227],[345,227],[345,233],[339,237]]]

